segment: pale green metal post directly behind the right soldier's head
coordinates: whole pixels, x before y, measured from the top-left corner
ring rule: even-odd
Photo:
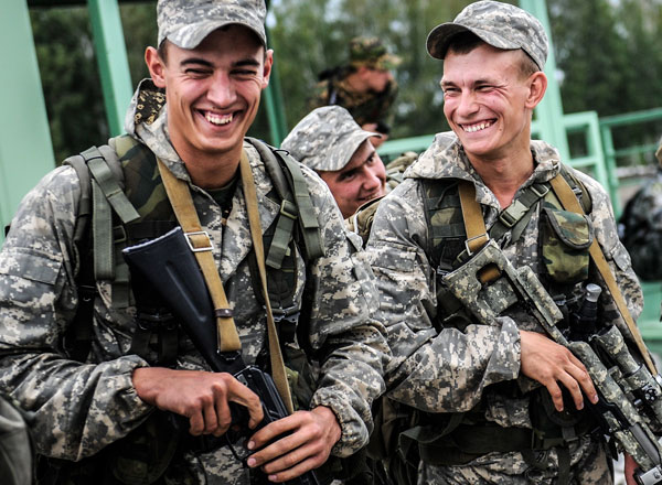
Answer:
[[[560,89],[556,80],[556,60],[554,56],[552,32],[549,30],[547,2],[545,0],[520,0],[520,7],[531,12],[541,21],[549,40],[549,52],[547,54],[547,63],[545,64],[547,91],[535,109],[536,118],[540,121],[541,138],[558,150],[562,160],[568,161],[570,159],[570,150],[568,148],[566,130],[562,122],[563,104],[560,100]]]

